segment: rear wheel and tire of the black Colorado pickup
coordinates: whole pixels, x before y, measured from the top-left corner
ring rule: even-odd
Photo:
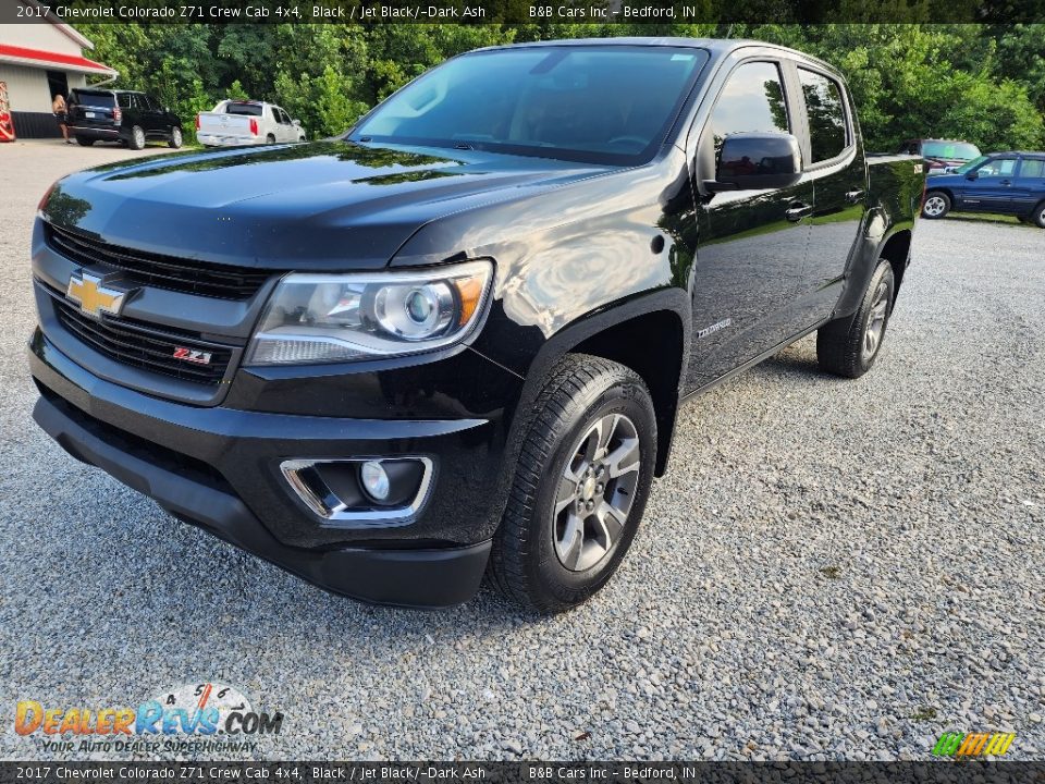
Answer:
[[[844,378],[860,378],[874,366],[885,342],[895,293],[893,266],[880,259],[857,311],[828,321],[816,332],[816,359],[821,370]],[[869,351],[871,330],[876,331],[876,338],[873,350]]]

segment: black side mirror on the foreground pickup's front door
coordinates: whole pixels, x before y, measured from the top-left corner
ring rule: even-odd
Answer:
[[[722,142],[715,179],[704,186],[712,193],[782,188],[801,176],[802,151],[791,134],[730,134]]]

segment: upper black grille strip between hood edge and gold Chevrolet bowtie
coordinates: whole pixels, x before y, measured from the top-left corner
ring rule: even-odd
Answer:
[[[51,249],[76,264],[104,265],[124,273],[127,282],[221,299],[246,299],[272,275],[254,267],[211,265],[206,261],[131,250],[45,224]]]

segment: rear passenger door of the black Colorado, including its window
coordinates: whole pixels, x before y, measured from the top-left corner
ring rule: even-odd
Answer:
[[[841,293],[849,255],[860,234],[868,168],[858,144],[851,102],[843,84],[815,65],[798,62],[794,76],[802,97],[802,157],[813,182],[809,253],[799,287],[806,320],[831,315]]]

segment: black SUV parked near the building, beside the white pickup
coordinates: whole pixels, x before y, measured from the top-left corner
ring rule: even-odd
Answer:
[[[101,140],[142,149],[150,138],[182,146],[182,121],[145,93],[78,87],[67,107],[70,131],[84,147]]]

